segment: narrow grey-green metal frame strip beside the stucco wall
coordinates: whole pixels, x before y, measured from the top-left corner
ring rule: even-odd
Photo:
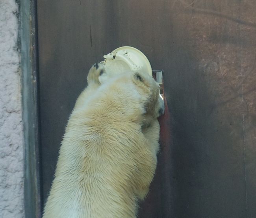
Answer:
[[[20,7],[20,68],[24,132],[24,210],[26,218],[41,217],[39,175],[37,15],[34,0],[17,1]]]

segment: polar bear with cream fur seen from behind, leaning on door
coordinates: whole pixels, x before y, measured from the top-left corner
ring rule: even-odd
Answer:
[[[163,105],[148,74],[89,71],[70,115],[43,218],[135,218],[156,169]],[[102,83],[102,84],[101,84]]]

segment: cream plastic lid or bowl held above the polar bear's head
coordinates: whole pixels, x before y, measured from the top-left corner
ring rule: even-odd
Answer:
[[[122,46],[104,55],[104,58],[105,60],[102,63],[104,63],[106,71],[110,74],[139,70],[152,76],[152,68],[147,57],[137,48]]]

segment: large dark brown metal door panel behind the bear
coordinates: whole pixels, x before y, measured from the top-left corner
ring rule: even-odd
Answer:
[[[87,71],[128,45],[164,70],[169,106],[140,217],[256,217],[255,11],[253,0],[38,1],[43,201]]]

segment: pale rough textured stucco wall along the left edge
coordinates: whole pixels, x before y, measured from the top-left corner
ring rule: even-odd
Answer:
[[[0,217],[24,217],[18,6],[0,0]]]

